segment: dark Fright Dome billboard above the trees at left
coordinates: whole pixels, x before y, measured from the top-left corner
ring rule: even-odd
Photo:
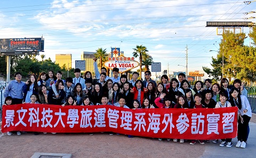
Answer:
[[[43,38],[0,39],[0,52],[5,55],[35,54],[38,51],[44,51]]]

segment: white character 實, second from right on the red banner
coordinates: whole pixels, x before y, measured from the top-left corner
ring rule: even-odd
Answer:
[[[219,114],[207,114],[207,135],[211,133],[219,134],[218,132],[218,121],[220,120]]]

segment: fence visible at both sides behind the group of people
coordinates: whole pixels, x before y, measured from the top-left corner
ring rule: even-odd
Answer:
[[[4,88],[5,88],[5,86],[0,87],[0,91],[1,91],[0,122],[2,122],[2,105],[4,103]],[[256,87],[255,86],[245,87],[245,89],[248,91],[247,98],[250,102],[252,111],[255,113],[256,112]]]

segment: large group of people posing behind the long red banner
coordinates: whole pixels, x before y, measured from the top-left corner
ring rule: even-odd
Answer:
[[[220,85],[212,84],[210,79],[196,81],[194,89],[180,73],[177,78],[162,75],[161,82],[152,80],[151,72],[145,72],[145,80],[138,80],[139,74],[134,72],[132,80],[126,75],[118,76],[119,69],[113,68],[113,77],[107,76],[107,69],[99,72],[94,62],[94,72],[97,79],[93,80],[92,73],[87,71],[81,76],[80,69],[74,71],[75,77],[62,79],[59,71],[42,72],[39,77],[30,75],[29,80],[22,82],[20,72],[14,74],[15,80],[5,87],[5,104],[41,103],[57,104],[60,106],[92,106],[111,105],[130,109],[148,108],[228,108],[238,107],[238,142],[236,147],[245,148],[249,135],[249,121],[252,117],[247,91],[241,81],[236,79],[233,86],[227,78],[222,78]],[[11,132],[7,133],[12,135]],[[20,132],[17,133],[20,135]],[[167,139],[170,141],[170,139]],[[159,138],[162,141],[162,138]],[[173,139],[178,142],[178,139]],[[180,143],[184,139],[180,139]],[[209,140],[198,140],[204,144]],[[218,140],[213,140],[217,143]],[[191,140],[193,145],[196,140]],[[220,146],[233,146],[231,138],[221,139]]]

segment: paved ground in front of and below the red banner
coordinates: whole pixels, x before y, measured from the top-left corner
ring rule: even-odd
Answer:
[[[125,135],[110,136],[107,133],[88,134],[22,134],[4,135],[0,138],[0,157],[30,157],[35,152],[70,153],[72,157],[255,157],[256,115],[250,122],[250,135],[245,149],[220,147],[206,143],[189,145],[189,142],[174,143],[158,141],[157,138]]]

